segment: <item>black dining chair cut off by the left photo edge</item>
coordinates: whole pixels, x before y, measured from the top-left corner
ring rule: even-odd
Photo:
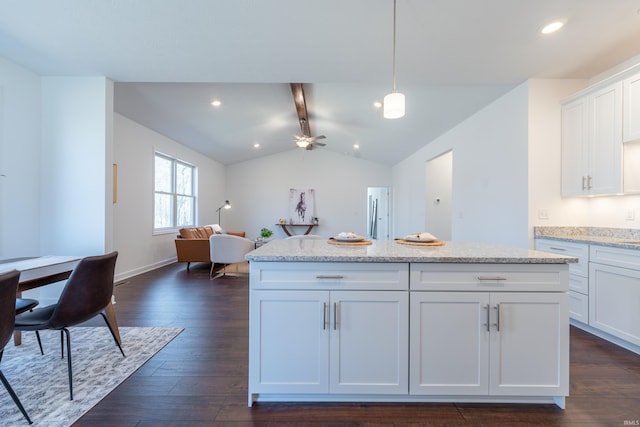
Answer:
[[[4,353],[4,346],[7,345],[11,336],[13,335],[13,322],[16,318],[15,304],[16,293],[18,292],[18,282],[20,281],[20,272],[17,270],[10,271],[8,273],[0,274],[0,361],[2,361],[2,354]],[[27,414],[27,411],[22,406],[20,399],[16,395],[15,391],[7,381],[7,378],[0,369],[0,381],[7,389],[9,395],[16,403],[22,415],[27,419],[29,424],[32,424],[31,418]]]

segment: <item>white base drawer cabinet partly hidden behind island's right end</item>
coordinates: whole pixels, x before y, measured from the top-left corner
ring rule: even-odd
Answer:
[[[536,239],[536,249],[578,258],[569,264],[569,316],[589,323],[589,245],[551,239]]]

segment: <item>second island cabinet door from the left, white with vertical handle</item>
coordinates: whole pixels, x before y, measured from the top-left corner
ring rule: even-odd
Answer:
[[[406,291],[332,291],[330,392],[407,394]]]

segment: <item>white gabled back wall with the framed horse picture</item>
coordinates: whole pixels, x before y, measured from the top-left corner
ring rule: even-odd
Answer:
[[[289,189],[313,188],[320,226],[312,233],[331,237],[354,231],[366,236],[367,187],[390,185],[387,166],[321,148],[292,149],[227,167],[227,192],[220,202],[229,199],[232,208],[222,212],[221,222],[223,228],[243,230],[251,239],[263,227],[273,230],[275,238],[286,237],[275,224],[287,217]]]

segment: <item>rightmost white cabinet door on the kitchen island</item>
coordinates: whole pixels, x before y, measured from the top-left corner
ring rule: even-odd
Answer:
[[[566,293],[492,293],[492,395],[565,396],[569,392]]]

